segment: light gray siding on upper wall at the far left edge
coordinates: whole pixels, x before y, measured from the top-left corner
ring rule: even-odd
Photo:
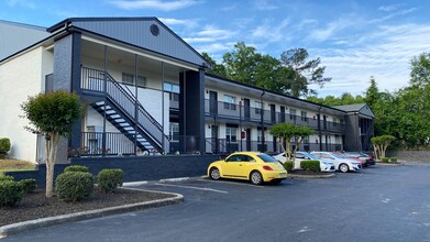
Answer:
[[[0,21],[0,61],[49,36],[44,28]]]

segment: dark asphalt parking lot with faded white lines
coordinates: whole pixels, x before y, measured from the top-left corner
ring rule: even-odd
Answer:
[[[135,188],[179,205],[66,223],[4,241],[430,241],[430,165],[383,166],[280,185],[191,178]]]

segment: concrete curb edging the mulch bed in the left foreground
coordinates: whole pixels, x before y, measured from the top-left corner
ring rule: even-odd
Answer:
[[[19,222],[19,223],[12,223],[12,224],[0,227],[0,239],[4,238],[7,235],[15,234],[15,233],[23,232],[26,230],[33,230],[33,229],[43,228],[43,227],[51,227],[51,226],[66,223],[66,222],[74,222],[74,221],[81,221],[81,220],[87,220],[87,219],[100,218],[100,217],[104,217],[104,216],[124,213],[124,212],[130,212],[130,211],[144,210],[144,209],[148,209],[148,208],[157,208],[157,207],[163,207],[163,206],[167,206],[167,205],[175,205],[175,204],[179,204],[179,202],[184,201],[184,196],[180,194],[142,190],[142,189],[133,189],[133,188],[122,188],[122,189],[168,194],[168,195],[175,195],[175,197],[152,200],[152,201],[137,202],[137,204],[131,204],[131,205],[117,206],[117,207],[110,207],[110,208],[103,208],[103,209],[82,211],[82,212],[77,212],[77,213],[68,213],[68,215],[48,217],[48,218],[43,218],[43,219],[35,219],[35,220],[30,220],[30,221],[24,221],[24,222]]]

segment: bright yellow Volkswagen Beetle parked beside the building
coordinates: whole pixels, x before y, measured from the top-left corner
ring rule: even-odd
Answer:
[[[287,178],[287,170],[272,156],[258,152],[235,152],[225,160],[212,162],[208,167],[211,179],[233,178],[251,180],[255,185],[264,182],[279,184]]]

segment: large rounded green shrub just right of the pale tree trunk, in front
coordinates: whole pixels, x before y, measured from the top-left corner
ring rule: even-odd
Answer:
[[[90,173],[68,172],[55,179],[55,191],[60,200],[78,201],[88,198],[93,190],[93,180]]]

